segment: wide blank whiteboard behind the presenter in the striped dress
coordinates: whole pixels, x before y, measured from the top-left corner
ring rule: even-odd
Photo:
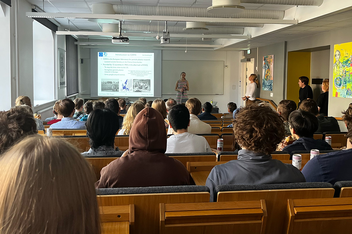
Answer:
[[[162,94],[176,94],[175,85],[186,72],[188,94],[224,94],[224,61],[162,61]]]

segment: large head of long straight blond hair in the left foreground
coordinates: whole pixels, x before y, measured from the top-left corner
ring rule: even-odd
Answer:
[[[28,137],[0,165],[1,233],[100,233],[95,175],[74,146]]]

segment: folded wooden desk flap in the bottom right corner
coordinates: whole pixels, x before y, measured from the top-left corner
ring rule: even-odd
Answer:
[[[285,233],[351,233],[352,198],[289,199]]]

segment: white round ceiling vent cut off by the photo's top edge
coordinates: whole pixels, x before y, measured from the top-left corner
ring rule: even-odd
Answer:
[[[245,9],[240,3],[240,0],[213,0],[207,10],[211,14],[238,14]]]

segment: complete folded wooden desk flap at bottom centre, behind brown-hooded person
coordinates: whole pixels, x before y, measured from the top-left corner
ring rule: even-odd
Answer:
[[[160,234],[264,233],[265,201],[160,204]]]

